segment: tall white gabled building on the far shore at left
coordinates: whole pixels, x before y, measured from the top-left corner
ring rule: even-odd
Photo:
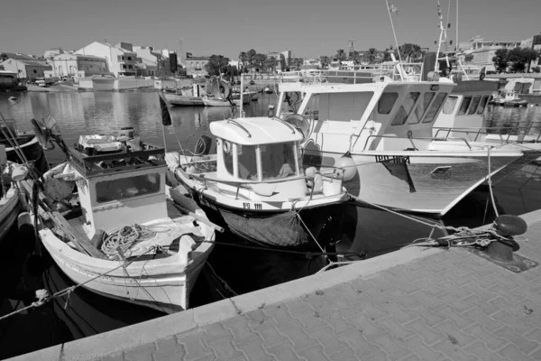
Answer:
[[[115,45],[108,42],[92,42],[75,53],[105,58],[107,69],[115,74],[115,77],[137,75],[135,68],[137,53],[133,51],[132,44],[128,42],[119,42]]]

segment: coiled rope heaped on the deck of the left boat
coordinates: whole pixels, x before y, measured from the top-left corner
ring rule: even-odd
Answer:
[[[156,236],[156,232],[149,227],[134,224],[124,226],[111,233],[101,245],[101,250],[112,261],[118,261],[121,256],[131,253],[130,248],[142,241]],[[119,255],[120,253],[120,255]]]

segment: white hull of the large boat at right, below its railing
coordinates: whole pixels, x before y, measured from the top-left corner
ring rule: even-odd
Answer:
[[[343,154],[305,150],[303,162],[333,167]],[[488,178],[487,156],[385,156],[353,154],[357,164],[350,194],[369,205],[443,216]],[[520,158],[491,156],[491,175]]]

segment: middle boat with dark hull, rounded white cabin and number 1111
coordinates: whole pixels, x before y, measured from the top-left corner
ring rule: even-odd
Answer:
[[[211,221],[271,247],[321,250],[340,239],[344,170],[304,170],[298,129],[255,117],[215,121],[210,132],[214,142],[202,137],[197,153],[167,153],[166,161]]]

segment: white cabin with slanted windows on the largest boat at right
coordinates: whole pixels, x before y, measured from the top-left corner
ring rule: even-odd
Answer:
[[[307,118],[306,143],[318,151],[427,149],[451,82],[282,83],[278,116]],[[412,143],[412,140],[415,142]]]

